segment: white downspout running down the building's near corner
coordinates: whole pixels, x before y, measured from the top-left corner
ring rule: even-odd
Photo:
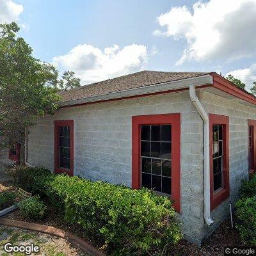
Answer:
[[[210,148],[209,148],[209,117],[204,107],[196,96],[195,85],[189,86],[189,96],[200,116],[204,120],[204,220],[207,225],[212,225],[210,204]]]

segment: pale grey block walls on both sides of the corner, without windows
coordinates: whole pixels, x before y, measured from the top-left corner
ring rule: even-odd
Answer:
[[[253,108],[211,93],[198,93],[209,113],[230,116],[230,198],[248,178],[248,124]],[[214,102],[214,104],[212,104]],[[239,109],[239,110],[238,110]],[[167,93],[61,108],[29,128],[28,163],[54,170],[54,120],[74,120],[74,175],[131,186],[132,116],[180,113],[180,199],[183,231],[200,244],[227,216],[229,199],[212,211],[214,225],[204,222],[204,124],[189,92]]]

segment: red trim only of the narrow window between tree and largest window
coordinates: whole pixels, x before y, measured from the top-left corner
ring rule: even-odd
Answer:
[[[70,169],[59,167],[59,127],[70,126]],[[74,175],[74,120],[58,120],[54,122],[54,172]]]

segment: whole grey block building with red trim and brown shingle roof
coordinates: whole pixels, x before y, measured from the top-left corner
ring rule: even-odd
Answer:
[[[142,71],[61,98],[28,129],[27,163],[170,196],[196,244],[255,170],[256,98],[214,72]]]

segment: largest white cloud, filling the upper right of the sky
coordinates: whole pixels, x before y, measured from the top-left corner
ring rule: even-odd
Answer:
[[[188,60],[231,61],[256,54],[256,0],[198,1],[193,12],[176,6],[157,21],[164,30],[157,29],[154,35],[186,40],[177,65]]]

